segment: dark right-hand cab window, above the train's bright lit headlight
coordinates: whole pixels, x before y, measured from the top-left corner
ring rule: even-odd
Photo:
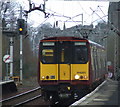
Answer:
[[[75,48],[75,57],[74,63],[87,63],[88,61],[88,52],[86,46],[79,46]]]

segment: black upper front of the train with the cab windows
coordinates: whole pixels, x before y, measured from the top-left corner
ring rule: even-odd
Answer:
[[[42,42],[41,61],[44,64],[85,64],[88,62],[86,42]]]

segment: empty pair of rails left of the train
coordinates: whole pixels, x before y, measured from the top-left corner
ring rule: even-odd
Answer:
[[[12,107],[20,106],[42,97],[40,93],[41,93],[41,88],[37,87],[33,90],[24,92],[22,94],[18,94],[18,95],[9,97],[7,99],[3,99],[0,101],[0,103],[2,103],[3,106],[5,105],[10,105]]]

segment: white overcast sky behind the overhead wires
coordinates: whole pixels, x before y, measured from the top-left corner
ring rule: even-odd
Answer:
[[[43,3],[43,0],[31,0],[36,6]],[[28,0],[20,0],[22,5],[28,9]],[[99,21],[107,21],[108,1],[53,1],[46,2],[46,12],[50,13],[49,18],[44,18],[44,14],[40,11],[34,11],[29,14],[28,21],[37,27],[40,24],[49,22],[52,25],[58,21],[58,26],[62,29],[65,22],[66,27],[82,24],[96,25]],[[102,20],[101,20],[102,18]]]

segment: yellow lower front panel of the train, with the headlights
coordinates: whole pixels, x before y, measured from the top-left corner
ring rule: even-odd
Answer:
[[[40,80],[89,80],[89,63],[87,64],[42,64],[40,63]],[[76,77],[77,78],[77,77]]]

